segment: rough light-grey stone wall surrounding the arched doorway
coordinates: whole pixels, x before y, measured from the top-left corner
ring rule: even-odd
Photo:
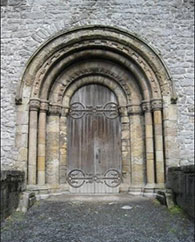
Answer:
[[[15,169],[15,95],[30,56],[51,35],[75,26],[122,27],[145,39],[162,56],[178,96],[181,165],[193,162],[193,0],[3,0],[2,17],[2,166]],[[24,146],[27,144],[24,144]],[[23,146],[23,147],[24,147]],[[26,154],[27,155],[27,154]],[[177,165],[174,164],[173,165]]]

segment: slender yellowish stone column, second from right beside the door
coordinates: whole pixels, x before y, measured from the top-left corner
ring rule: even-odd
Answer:
[[[146,187],[155,188],[153,121],[151,106],[148,101],[142,102],[142,110],[145,120]]]

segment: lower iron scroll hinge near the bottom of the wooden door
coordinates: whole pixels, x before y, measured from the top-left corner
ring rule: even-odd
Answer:
[[[109,169],[104,175],[85,174],[80,169],[74,169],[68,173],[67,182],[74,188],[81,187],[84,183],[104,183],[108,187],[114,188],[121,184],[122,177],[118,170]]]

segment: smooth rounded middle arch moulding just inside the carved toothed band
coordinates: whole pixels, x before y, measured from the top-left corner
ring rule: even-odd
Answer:
[[[37,81],[35,81],[33,85],[32,97],[39,97],[39,95],[42,96],[44,93],[48,93],[52,82],[55,80],[55,77],[60,75],[63,69],[65,69],[67,66],[70,66],[72,63],[85,61],[86,58],[92,60],[94,58],[101,58],[102,60],[104,59],[112,61],[113,63],[120,65],[121,68],[127,69],[129,73],[132,73],[138,85],[140,86],[144,99],[161,98],[162,94],[160,91],[160,86],[155,79],[154,73],[152,73],[149,66],[147,67],[147,64],[145,64],[147,67],[145,72],[142,70],[144,63],[143,61],[140,61],[141,65],[138,65],[131,60],[131,57],[125,57],[123,56],[124,53],[119,54],[117,53],[118,50],[116,51],[113,48],[111,49],[110,47],[107,47],[106,50],[101,50],[94,49],[94,46],[87,46],[88,49],[85,50],[76,48],[76,54],[73,53],[70,56],[67,56],[66,54],[65,58],[53,58],[53,62],[50,62],[52,63],[50,64],[50,67],[47,65],[46,69],[40,69],[37,73],[37,77],[35,78]],[[40,86],[43,88],[40,88]],[[46,90],[44,90],[44,86],[46,86]],[[42,90],[42,94],[39,93],[40,90]]]

